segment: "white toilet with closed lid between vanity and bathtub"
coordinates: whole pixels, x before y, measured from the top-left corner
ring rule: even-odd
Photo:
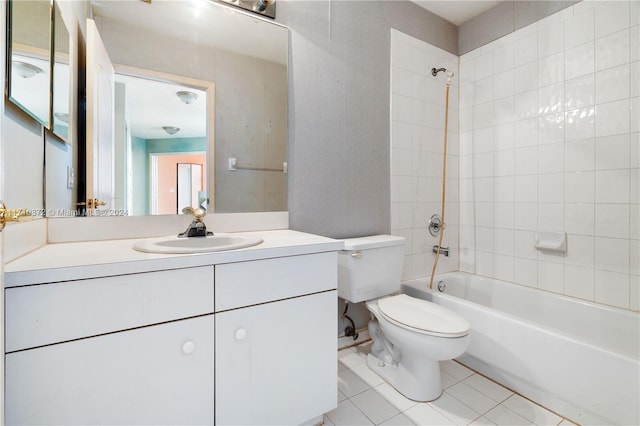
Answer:
[[[338,296],[351,303],[366,301],[373,314],[369,368],[407,398],[432,401],[442,394],[439,361],[467,350],[469,323],[440,305],[397,294],[403,257],[402,237],[344,240],[338,256]]]

